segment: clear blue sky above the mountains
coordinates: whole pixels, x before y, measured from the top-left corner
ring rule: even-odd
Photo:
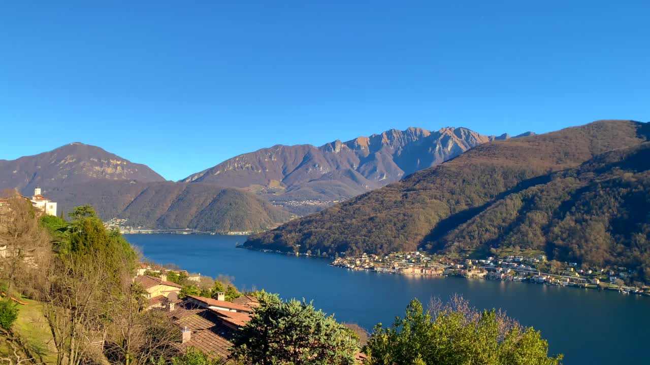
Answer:
[[[167,179],[390,128],[650,120],[649,1],[3,1],[0,158]]]

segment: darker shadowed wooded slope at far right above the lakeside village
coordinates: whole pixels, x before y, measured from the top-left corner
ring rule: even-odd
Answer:
[[[549,258],[638,268],[650,279],[650,143],[604,153],[508,194],[426,242],[445,253],[515,248]]]

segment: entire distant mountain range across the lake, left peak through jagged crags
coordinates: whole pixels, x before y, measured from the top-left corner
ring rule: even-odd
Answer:
[[[0,188],[31,195],[40,186],[59,210],[90,203],[104,220],[128,219],[134,227],[263,231],[508,138],[465,128],[391,129],[320,147],[259,149],[177,183],[144,164],[75,142],[0,160]]]

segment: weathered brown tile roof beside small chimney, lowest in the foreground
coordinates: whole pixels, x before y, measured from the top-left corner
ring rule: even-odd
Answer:
[[[188,342],[174,344],[179,351],[185,351],[187,347],[193,346],[205,353],[224,359],[230,355],[229,349],[233,344],[229,339],[232,338],[233,331],[223,325],[220,318],[211,310],[199,308],[184,301],[167,314],[180,329],[187,327],[191,330]]]

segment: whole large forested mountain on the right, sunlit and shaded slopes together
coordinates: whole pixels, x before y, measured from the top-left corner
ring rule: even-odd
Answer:
[[[249,247],[473,255],[515,247],[650,279],[650,125],[597,121],[494,140],[255,234]],[[298,246],[299,245],[299,246]]]

